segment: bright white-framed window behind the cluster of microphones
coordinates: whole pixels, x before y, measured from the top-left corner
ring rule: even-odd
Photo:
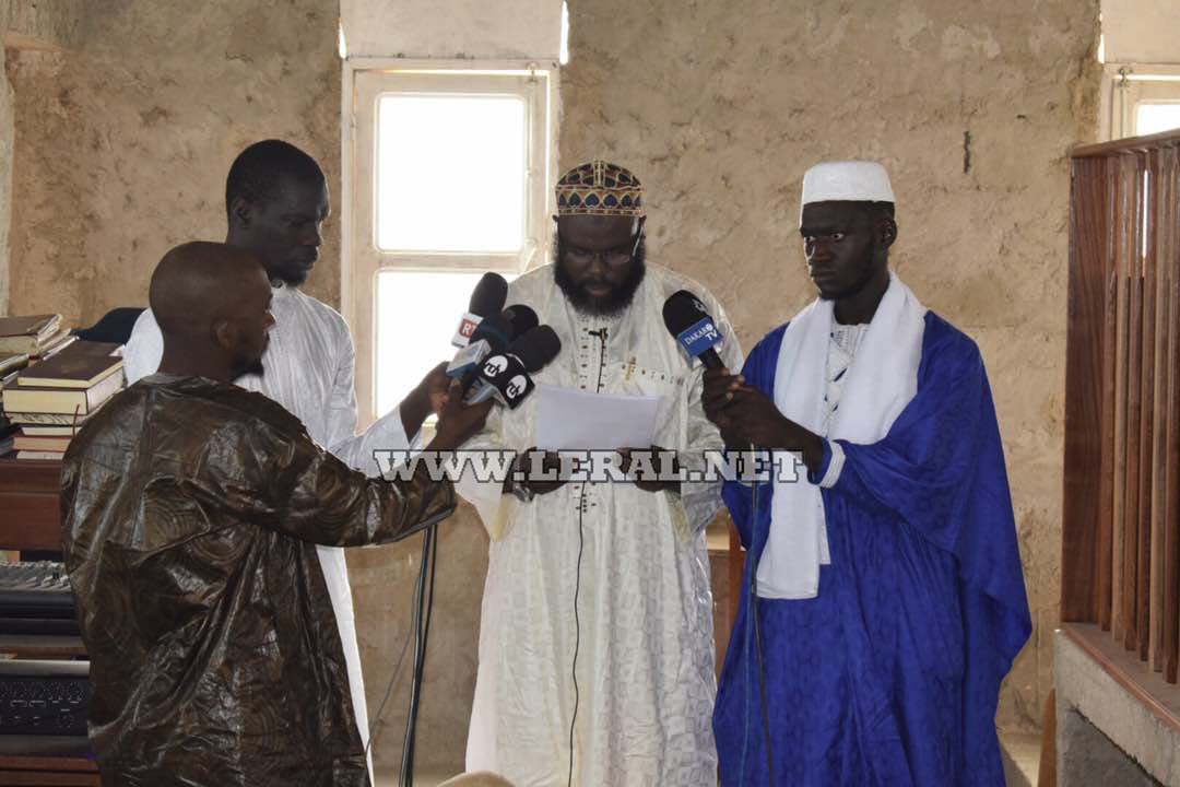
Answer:
[[[433,366],[479,277],[513,278],[549,248],[552,70],[352,72],[345,311],[362,422]]]

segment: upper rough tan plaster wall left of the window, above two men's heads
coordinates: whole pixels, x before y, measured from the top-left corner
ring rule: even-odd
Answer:
[[[224,182],[282,137],[340,183],[336,4],[107,0],[81,42],[9,52],[15,91],[11,309],[90,324],[146,303],[170,247],[225,235]],[[339,303],[339,231],[308,291]]]

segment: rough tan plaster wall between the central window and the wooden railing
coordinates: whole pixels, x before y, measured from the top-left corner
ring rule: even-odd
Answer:
[[[727,306],[749,348],[811,297],[808,165],[893,176],[894,268],[988,363],[1036,631],[1002,697],[1032,728],[1057,621],[1069,145],[1092,138],[1096,0],[571,4],[562,168],[648,188],[650,254]],[[966,171],[964,171],[966,170]]]

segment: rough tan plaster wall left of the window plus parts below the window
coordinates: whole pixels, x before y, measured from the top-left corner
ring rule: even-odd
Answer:
[[[224,237],[225,173],[257,139],[281,137],[315,156],[339,206],[336,19],[336,4],[323,0],[117,0],[86,20],[77,48],[12,53],[13,310],[59,310],[90,324],[112,307],[146,303],[164,251]],[[0,96],[0,138],[2,111]],[[329,219],[307,288],[333,306],[339,227],[339,216]],[[474,689],[483,532],[464,507],[440,544],[417,759],[452,774],[463,766]],[[407,631],[419,544],[349,555],[373,714]],[[411,658],[374,747],[379,765],[401,756]]]

